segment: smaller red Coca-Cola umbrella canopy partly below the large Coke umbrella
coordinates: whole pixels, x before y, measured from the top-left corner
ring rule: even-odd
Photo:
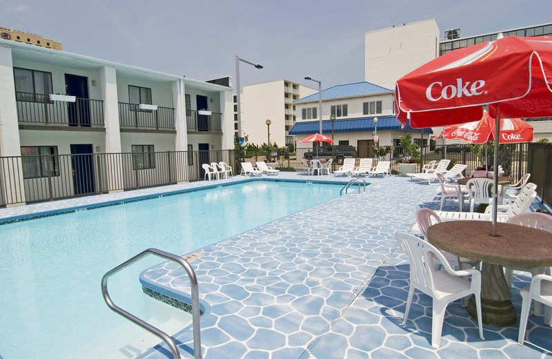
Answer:
[[[479,121],[448,125],[435,139],[462,139],[470,144],[484,144],[495,139],[495,119],[485,112]],[[533,141],[533,126],[522,119],[500,119],[500,143]]]

